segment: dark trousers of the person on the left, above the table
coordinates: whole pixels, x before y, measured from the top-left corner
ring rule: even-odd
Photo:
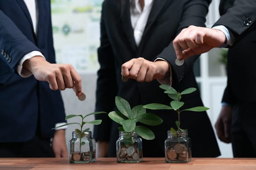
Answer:
[[[0,157],[55,157],[50,144],[39,136],[26,142],[0,143]]]

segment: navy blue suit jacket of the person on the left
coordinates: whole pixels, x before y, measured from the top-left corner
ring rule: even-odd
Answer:
[[[0,142],[27,141],[38,134],[53,137],[55,124],[65,122],[60,91],[33,76],[16,73],[20,59],[41,51],[55,63],[50,0],[38,0],[38,34],[23,0],[0,0]]]

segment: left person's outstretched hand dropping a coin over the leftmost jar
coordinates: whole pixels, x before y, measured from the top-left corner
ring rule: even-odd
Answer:
[[[51,64],[41,56],[24,61],[27,68],[39,81],[46,81],[52,90],[75,88],[77,96],[81,95],[81,77],[71,64]]]

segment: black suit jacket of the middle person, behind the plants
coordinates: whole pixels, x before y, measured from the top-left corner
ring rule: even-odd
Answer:
[[[128,80],[126,83],[121,81],[121,65],[132,58],[144,57],[150,61],[156,57],[164,58],[172,66],[173,86],[178,91],[181,92],[188,87],[198,89],[193,73],[193,63],[198,56],[185,61],[183,66],[176,66],[172,41],[181,29],[189,25],[204,26],[208,1],[155,0],[138,47],[130,20],[129,0],[122,2],[123,6],[117,0],[104,0],[102,4],[96,110],[106,112],[116,110],[115,96],[127,100],[131,107],[153,102],[170,103],[171,99],[159,88],[160,84],[157,80],[150,83],[138,83],[135,80]],[[184,96],[183,101],[186,103],[185,107],[203,105],[198,91]],[[167,130],[176,127],[177,113],[166,110],[155,113],[162,117],[164,122],[159,126],[150,127],[155,132],[156,139],[143,140],[145,157],[163,157]],[[103,121],[94,127],[94,137],[97,140],[109,141],[109,156],[115,156],[119,125],[107,115],[96,115],[96,119]],[[215,157],[220,154],[206,112],[182,113],[181,128],[189,131],[194,157]],[[203,148],[209,150],[205,151]]]

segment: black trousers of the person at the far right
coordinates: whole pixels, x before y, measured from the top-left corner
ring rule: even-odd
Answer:
[[[234,157],[256,157],[256,103],[239,102],[234,106],[231,142]]]

